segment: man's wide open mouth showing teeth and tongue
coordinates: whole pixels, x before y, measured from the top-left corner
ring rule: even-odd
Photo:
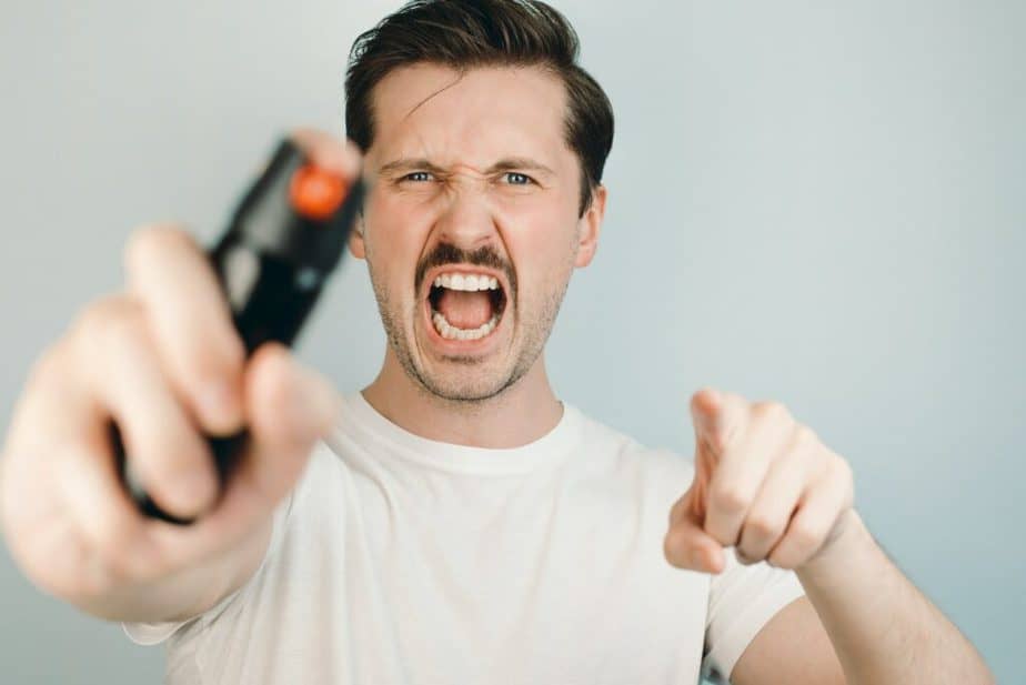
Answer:
[[[445,340],[477,341],[499,328],[506,306],[502,281],[481,272],[444,271],[428,294],[430,320]]]

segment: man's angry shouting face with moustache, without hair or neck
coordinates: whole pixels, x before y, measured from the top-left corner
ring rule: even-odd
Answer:
[[[351,249],[389,344],[434,395],[492,397],[537,360],[604,210],[603,188],[577,216],[563,85],[536,68],[461,78],[415,64],[375,87],[373,112],[373,185]]]

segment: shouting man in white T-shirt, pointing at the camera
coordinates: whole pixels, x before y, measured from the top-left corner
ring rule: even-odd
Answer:
[[[350,249],[389,345],[341,406],[280,346],[243,362],[184,233],[138,233],[128,293],[48,351],[12,423],[0,495],[28,575],[167,641],[171,683],[993,682],[778,403],[695,393],[692,462],[556,399],[542,352],[597,245],[613,135],[575,56],[529,1],[418,1],[358,40]],[[198,524],[131,510],[110,415]],[[212,503],[192,425],[243,423],[254,447]]]

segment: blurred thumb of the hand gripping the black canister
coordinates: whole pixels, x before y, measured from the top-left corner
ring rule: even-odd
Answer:
[[[239,476],[273,505],[292,488],[314,443],[334,425],[341,402],[325,379],[280,343],[255,351],[245,385],[251,442]]]

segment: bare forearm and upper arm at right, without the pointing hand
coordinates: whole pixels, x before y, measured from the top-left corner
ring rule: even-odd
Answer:
[[[844,682],[822,679],[839,658],[853,685],[995,683],[969,641],[891,563],[862,517],[851,510],[834,544],[796,570],[805,605],[794,602],[766,624],[738,659],[734,682]]]

